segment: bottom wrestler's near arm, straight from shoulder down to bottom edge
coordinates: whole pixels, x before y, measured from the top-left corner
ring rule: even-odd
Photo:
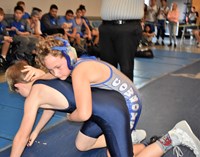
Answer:
[[[20,157],[23,153],[35,122],[39,104],[37,93],[31,92],[24,103],[24,115],[20,128],[13,141],[11,157]]]

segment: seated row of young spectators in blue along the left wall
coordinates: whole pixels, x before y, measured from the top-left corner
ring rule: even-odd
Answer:
[[[36,44],[48,35],[62,34],[81,52],[89,46],[98,47],[98,29],[92,27],[85,16],[84,5],[78,6],[75,13],[71,9],[65,15],[58,16],[57,13],[57,5],[52,4],[48,13],[43,14],[40,8],[33,7],[29,14],[23,1],[17,2],[11,17],[5,17],[3,8],[0,8],[1,72],[13,60],[26,59],[33,64]]]

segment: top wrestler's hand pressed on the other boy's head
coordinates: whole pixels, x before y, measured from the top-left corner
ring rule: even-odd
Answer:
[[[45,74],[44,71],[34,68],[30,65],[24,66],[24,69],[21,71],[23,73],[27,73],[24,80],[25,81],[34,81],[40,78],[42,75]]]

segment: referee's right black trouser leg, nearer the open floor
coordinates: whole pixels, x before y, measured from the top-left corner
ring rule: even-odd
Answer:
[[[142,27],[139,20],[113,26],[114,48],[120,70],[133,81],[134,57],[142,38]]]

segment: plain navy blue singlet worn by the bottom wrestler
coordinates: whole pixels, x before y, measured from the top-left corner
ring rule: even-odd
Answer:
[[[54,79],[37,80],[34,84],[44,84],[56,89],[69,102],[66,112],[75,110],[75,98],[70,82]],[[92,116],[84,122],[80,131],[93,138],[104,134],[111,156],[133,157],[129,112],[124,97],[116,91],[92,88],[92,105]]]

